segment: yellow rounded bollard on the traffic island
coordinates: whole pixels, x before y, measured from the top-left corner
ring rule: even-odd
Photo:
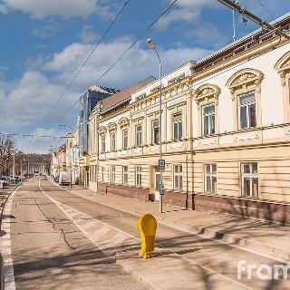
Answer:
[[[156,228],[157,222],[152,215],[145,214],[139,218],[138,229],[141,236],[141,250],[139,255],[145,259],[154,256]]]

